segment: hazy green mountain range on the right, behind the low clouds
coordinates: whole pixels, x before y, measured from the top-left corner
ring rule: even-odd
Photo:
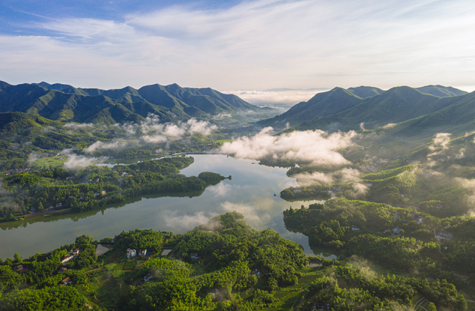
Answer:
[[[335,87],[316,94],[307,102],[298,103],[282,115],[260,121],[260,124],[275,128],[290,125],[298,130],[349,131],[359,130],[362,124],[365,129],[371,130],[424,117],[424,130],[428,132],[431,128],[438,131],[440,126],[447,128],[447,131],[457,126],[453,131],[458,131],[470,127],[456,124],[455,120],[470,121],[467,115],[472,115],[473,97],[467,92],[442,85],[419,88],[401,86],[387,91],[376,87],[352,87],[348,90]],[[460,109],[462,106],[463,110]],[[440,119],[442,111],[451,118]],[[416,131],[412,134],[420,130],[413,129]]]

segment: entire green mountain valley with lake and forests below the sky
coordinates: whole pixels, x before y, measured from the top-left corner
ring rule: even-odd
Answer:
[[[44,295],[72,310],[474,310],[474,93],[336,87],[277,115],[178,85],[1,91],[6,310]],[[70,249],[84,255],[61,275]]]

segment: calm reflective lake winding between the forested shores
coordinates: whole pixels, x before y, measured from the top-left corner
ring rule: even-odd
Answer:
[[[291,205],[298,208],[315,202],[290,203],[280,198],[281,190],[297,185],[294,178],[285,174],[287,169],[226,155],[193,155],[193,158],[194,163],[183,169],[182,174],[197,176],[202,171],[213,171],[226,177],[231,175],[232,179],[207,187],[201,195],[143,196],[100,210],[2,223],[0,257],[13,258],[17,252],[28,258],[71,244],[79,235],[99,240],[135,228],[185,233],[210,217],[233,210],[242,213],[249,226],[274,229],[281,237],[301,244],[306,254],[313,255],[305,235],[285,229],[283,210]]]

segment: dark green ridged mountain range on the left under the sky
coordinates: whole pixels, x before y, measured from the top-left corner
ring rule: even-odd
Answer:
[[[0,81],[0,112],[26,112],[56,121],[114,124],[140,121],[149,113],[162,121],[180,121],[242,112],[266,114],[270,110],[210,88],[183,88],[177,84],[100,90],[59,83],[10,85]]]

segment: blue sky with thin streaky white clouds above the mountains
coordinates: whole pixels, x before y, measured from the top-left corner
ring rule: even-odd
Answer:
[[[471,92],[474,16],[472,0],[1,0],[0,80]]]

